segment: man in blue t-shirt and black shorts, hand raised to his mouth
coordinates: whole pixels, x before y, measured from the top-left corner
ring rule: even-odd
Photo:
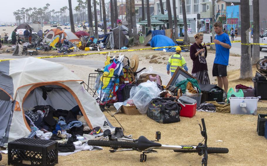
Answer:
[[[216,22],[213,25],[216,33],[214,43],[216,47],[216,54],[212,68],[212,76],[216,76],[218,86],[224,87],[223,97],[227,98],[228,79],[227,79],[227,66],[229,61],[229,51],[231,49],[231,42],[229,36],[222,31],[222,23]]]

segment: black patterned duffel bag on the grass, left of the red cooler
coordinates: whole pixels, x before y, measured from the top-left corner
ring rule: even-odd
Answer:
[[[167,98],[154,98],[148,105],[147,116],[159,123],[180,122],[181,107]]]

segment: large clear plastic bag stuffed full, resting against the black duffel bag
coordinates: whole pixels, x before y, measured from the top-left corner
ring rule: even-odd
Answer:
[[[143,115],[146,114],[152,99],[160,96],[157,83],[149,80],[139,84],[132,93],[134,93],[134,96],[131,99],[138,111]]]

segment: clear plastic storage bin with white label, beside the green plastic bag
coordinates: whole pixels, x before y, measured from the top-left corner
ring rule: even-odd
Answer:
[[[257,99],[245,99],[244,97],[230,97],[231,114],[257,115]]]

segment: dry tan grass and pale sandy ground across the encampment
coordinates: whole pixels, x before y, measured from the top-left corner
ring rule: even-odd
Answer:
[[[138,69],[152,66],[153,71],[160,74],[163,84],[168,82],[170,75],[166,74],[166,63],[169,56],[173,53],[153,50],[124,53],[129,58],[135,54],[140,58]],[[111,53],[111,56],[115,55],[119,55],[119,53]],[[182,53],[182,56],[185,57],[189,72],[191,73],[192,60],[190,60],[189,53]],[[209,76],[212,82],[215,82],[215,78],[211,77],[214,56],[213,53],[208,53],[207,57]],[[99,66],[99,68],[103,68],[105,57],[106,55],[101,54],[63,58],[77,61],[98,60],[103,62],[103,65]],[[15,57],[11,56],[11,58]],[[89,73],[96,70],[96,68],[92,68],[91,64],[85,66],[63,63],[63,58],[61,58],[61,64],[73,70],[86,83]],[[251,80],[239,80],[239,57],[230,56],[227,69],[229,88],[235,87],[236,84],[253,85]],[[253,74],[255,74],[255,70],[254,67]],[[266,107],[266,102],[258,102],[258,113],[267,114]],[[115,112],[112,107],[111,112]],[[113,117],[107,112],[104,112],[104,114],[114,126],[119,127],[119,123]],[[172,124],[159,124],[145,115],[125,115],[119,113],[115,117],[126,130],[124,134],[133,134],[135,139],[140,135],[144,135],[148,139],[153,140],[155,132],[160,131],[160,143],[169,145],[197,145],[202,141],[198,123],[201,123],[201,118],[205,118],[208,146],[229,148],[228,154],[210,154],[208,158],[209,165],[266,165],[267,142],[263,136],[258,136],[256,132],[258,118],[256,115],[197,112],[192,118],[180,117],[180,122]],[[216,142],[217,140],[222,140],[222,142]],[[108,150],[109,148],[104,148],[101,151],[82,151],[65,157],[60,156],[57,165],[201,165],[202,159],[201,156],[195,153],[175,153],[170,150],[158,150],[158,153],[148,154],[147,161],[141,163],[139,162],[140,152],[110,153]],[[3,160],[0,161],[0,165],[7,165],[6,154],[3,154]]]

